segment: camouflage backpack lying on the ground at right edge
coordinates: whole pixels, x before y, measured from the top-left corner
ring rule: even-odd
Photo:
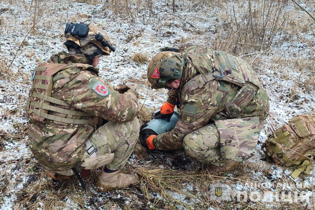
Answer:
[[[291,174],[294,179],[302,172],[309,174],[315,153],[315,114],[291,118],[268,136],[261,149],[266,161],[296,168]]]

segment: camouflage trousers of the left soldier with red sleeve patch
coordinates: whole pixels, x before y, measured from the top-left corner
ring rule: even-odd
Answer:
[[[105,165],[110,170],[121,169],[129,159],[139,137],[137,118],[130,122],[107,122],[89,137],[97,149],[96,155],[114,153],[112,162]]]

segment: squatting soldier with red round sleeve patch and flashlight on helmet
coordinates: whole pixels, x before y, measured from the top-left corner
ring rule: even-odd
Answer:
[[[98,76],[100,56],[115,50],[103,30],[68,23],[65,36],[69,53],[51,56],[32,76],[27,105],[31,151],[54,179],[76,174],[84,185],[80,175],[104,166],[99,191],[129,187],[137,177],[119,169],[139,137],[138,93],[124,84],[113,88]]]

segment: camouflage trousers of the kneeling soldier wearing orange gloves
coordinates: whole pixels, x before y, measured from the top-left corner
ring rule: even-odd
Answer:
[[[258,116],[217,120],[188,133],[183,147],[189,156],[213,165],[242,162],[254,155],[263,124]]]

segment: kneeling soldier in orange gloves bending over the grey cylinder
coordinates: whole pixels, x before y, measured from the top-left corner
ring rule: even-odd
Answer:
[[[209,172],[221,175],[253,156],[269,102],[252,67],[223,51],[202,46],[163,48],[148,65],[152,88],[169,90],[161,114],[169,120],[175,105],[175,128],[150,135],[148,149],[184,148],[189,156],[208,162]]]

